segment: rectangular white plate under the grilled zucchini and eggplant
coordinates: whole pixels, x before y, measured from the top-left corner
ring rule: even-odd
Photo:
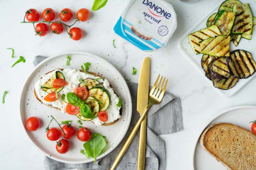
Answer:
[[[242,0],[241,2],[247,3],[247,2],[245,2],[245,0]],[[252,0],[248,3],[252,9],[252,13],[254,15],[256,15],[256,1]],[[204,17],[203,19],[201,19],[197,23],[195,23],[195,26],[193,26],[191,29],[189,29],[187,32],[185,32],[184,35],[180,39],[180,43],[179,43],[180,50],[184,53],[184,56],[188,59],[189,63],[191,63],[196,68],[196,70],[200,72],[200,74],[202,76],[204,76],[204,70],[201,66],[201,58],[202,58],[203,54],[198,54],[198,55],[195,54],[195,52],[192,50],[192,48],[189,44],[188,35],[195,31],[199,31],[200,29],[206,28],[206,21],[207,21],[208,17],[210,17],[213,13],[217,12],[220,5],[221,5],[221,3],[217,4],[213,8],[209,8],[210,12],[206,15],[206,17]],[[214,10],[212,10],[212,9],[214,9]],[[196,18],[194,20],[196,20]],[[255,51],[256,36],[254,34],[256,34],[256,31],[253,32],[252,40],[246,40],[244,38],[241,38],[237,47],[234,46],[233,42],[230,42],[230,51],[233,51],[236,49],[246,50],[246,51],[250,52],[252,54],[253,58],[256,60],[256,51]],[[253,74],[251,77],[249,77],[247,79],[240,79],[239,82],[236,84],[236,86],[234,86],[233,88],[230,88],[229,90],[221,90],[219,88],[215,88],[212,85],[212,82],[208,78],[206,78],[205,76],[204,76],[204,78],[207,82],[209,82],[212,85],[212,88],[215,88],[222,95],[232,96],[232,95],[236,94],[242,87],[245,86],[245,84],[247,84],[255,76],[256,76],[256,74]]]

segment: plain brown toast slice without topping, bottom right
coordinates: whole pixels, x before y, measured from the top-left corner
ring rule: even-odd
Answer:
[[[256,135],[230,123],[212,124],[200,145],[230,170],[256,169]]]

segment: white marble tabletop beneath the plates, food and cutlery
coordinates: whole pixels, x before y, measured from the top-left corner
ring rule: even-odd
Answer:
[[[205,122],[223,108],[254,105],[256,79],[233,97],[225,98],[216,93],[204,80],[205,77],[199,75],[182,56],[178,49],[178,39],[197,20],[208,15],[208,11],[218,0],[200,0],[193,4],[178,0],[167,1],[176,10],[178,27],[167,46],[155,52],[143,52],[113,33],[113,26],[128,0],[109,0],[104,8],[91,12],[89,23],[78,23],[76,26],[86,32],[86,36],[80,41],[69,39],[65,33],[49,34],[40,38],[34,36],[32,25],[20,24],[20,21],[29,8],[36,8],[41,12],[46,7],[55,11],[68,7],[76,11],[82,7],[90,8],[93,0],[0,1],[0,95],[2,96],[4,90],[9,92],[6,103],[0,104],[0,169],[44,169],[44,155],[38,153],[21,129],[18,116],[20,84],[23,84],[33,70],[32,61],[35,55],[51,56],[67,51],[85,51],[102,56],[132,82],[138,82],[139,79],[139,72],[131,75],[132,67],[139,70],[143,58],[150,56],[151,83],[158,73],[167,76],[168,91],[181,98],[183,109],[184,130],[162,136],[166,144],[166,169],[193,169],[193,147]],[[255,0],[250,1],[255,3]],[[117,48],[112,46],[113,39],[116,39]],[[5,50],[8,47],[15,48],[15,59],[10,57],[10,51]],[[11,68],[19,55],[25,57],[26,63],[19,63]]]

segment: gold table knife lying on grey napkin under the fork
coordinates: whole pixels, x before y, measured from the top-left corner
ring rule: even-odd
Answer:
[[[148,104],[149,77],[150,77],[150,58],[146,57],[143,61],[143,64],[140,70],[140,78],[139,78],[139,85],[138,85],[137,111],[140,113],[140,115],[143,113],[144,108]],[[138,170],[144,170],[145,168],[146,128],[147,128],[147,117],[144,118],[144,120],[140,125]]]

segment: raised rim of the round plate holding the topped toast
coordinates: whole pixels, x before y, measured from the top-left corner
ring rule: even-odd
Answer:
[[[63,53],[59,53],[59,54],[56,54],[56,55],[53,55],[53,56],[50,56],[48,57],[47,59],[43,60],[41,63],[39,63],[37,66],[35,66],[34,70],[31,71],[31,73],[29,74],[28,78],[26,79],[25,83],[23,84],[22,86],[22,89],[21,89],[21,92],[20,92],[20,97],[19,97],[19,120],[20,120],[20,123],[22,125],[22,129],[23,131],[25,132],[25,134],[27,135],[27,137],[30,139],[30,136],[29,134],[27,134],[26,132],[26,129],[25,129],[25,126],[22,122],[22,115],[21,115],[21,104],[22,104],[22,94],[23,94],[23,90],[25,89],[25,86],[27,84],[27,82],[29,81],[29,79],[31,78],[31,76],[33,76],[35,70],[37,70],[38,67],[41,67],[43,64],[47,63],[48,60],[52,60],[53,58],[57,58],[61,55],[72,55],[72,54],[82,54],[82,55],[87,55],[87,56],[91,56],[93,58],[96,58],[97,60],[101,60],[101,62],[105,62],[107,64],[109,64],[109,66],[112,67],[112,69],[116,72],[116,74],[119,74],[120,76],[120,81],[122,81],[123,84],[125,84],[124,86],[124,89],[127,91],[127,95],[128,95],[128,100],[129,101],[132,101],[132,98],[131,98],[131,93],[129,91],[129,88],[128,88],[128,85],[123,77],[123,75],[121,75],[121,73],[117,70],[116,67],[114,67],[110,62],[108,62],[107,60],[99,57],[98,55],[94,55],[94,54],[91,54],[91,53],[87,53],[87,52],[82,52],[82,51],[71,51],[71,52],[63,52]],[[75,60],[75,58],[73,59]],[[113,147],[110,147],[107,151],[105,151],[104,153],[102,153],[101,155],[99,155],[97,157],[97,160],[98,159],[101,159],[102,157],[108,155],[111,151],[113,151],[119,144],[120,142],[123,140],[125,134],[127,133],[127,130],[129,128],[129,125],[131,123],[131,118],[132,118],[132,102],[129,102],[129,106],[128,106],[128,111],[127,113],[129,114],[128,116],[128,120],[126,120],[128,123],[126,124],[126,127],[125,127],[125,130],[123,131],[123,134],[120,135],[120,138],[118,140],[118,142],[116,142],[116,144],[113,146]],[[113,125],[114,126],[114,125]],[[34,141],[32,139],[30,139],[31,142],[33,143],[33,145],[44,155],[46,155],[47,157],[51,158],[51,159],[54,159],[56,161],[60,161],[60,162],[63,162],[63,163],[73,163],[73,164],[77,164],[77,163],[88,163],[88,162],[92,162],[93,160],[90,160],[90,159],[85,159],[84,161],[65,161],[65,160],[62,160],[62,159],[59,159],[59,158],[55,158],[55,157],[51,157],[49,154],[47,154],[45,151],[41,150],[37,145],[36,143],[34,143]]]

